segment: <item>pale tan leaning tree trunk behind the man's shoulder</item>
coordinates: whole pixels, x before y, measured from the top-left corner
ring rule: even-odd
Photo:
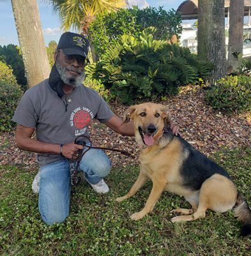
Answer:
[[[29,87],[49,77],[47,56],[36,0],[11,0]]]

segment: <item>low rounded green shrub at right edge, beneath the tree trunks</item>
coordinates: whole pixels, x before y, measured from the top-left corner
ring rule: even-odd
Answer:
[[[214,109],[225,112],[251,110],[251,77],[227,76],[206,92],[205,100]]]

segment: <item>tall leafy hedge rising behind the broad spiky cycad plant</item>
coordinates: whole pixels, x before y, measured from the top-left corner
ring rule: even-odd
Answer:
[[[119,9],[117,12],[104,12],[91,22],[89,35],[95,45],[98,56],[107,50],[107,45],[115,45],[122,35],[132,35],[139,39],[142,30],[154,26],[156,40],[170,40],[173,35],[181,33],[181,16],[174,10],[162,7]]]

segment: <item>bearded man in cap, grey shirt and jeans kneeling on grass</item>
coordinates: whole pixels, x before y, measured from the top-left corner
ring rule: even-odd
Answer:
[[[39,211],[49,225],[63,222],[69,214],[70,159],[83,148],[74,141],[89,136],[87,127],[93,118],[119,134],[134,135],[132,123],[123,124],[95,90],[82,84],[88,47],[82,35],[61,35],[49,79],[24,93],[13,116],[17,146],[37,153],[40,172],[33,190],[39,192]],[[35,129],[36,139],[31,138]],[[178,127],[173,131],[177,134]],[[110,173],[110,161],[102,150],[88,150],[78,171],[97,193],[109,191],[103,177]]]

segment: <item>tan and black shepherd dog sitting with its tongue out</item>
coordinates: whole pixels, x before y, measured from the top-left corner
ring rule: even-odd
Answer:
[[[226,212],[234,206],[235,216],[244,222],[241,235],[251,234],[251,211],[243,196],[238,193],[231,176],[224,168],[196,150],[181,136],[174,136],[169,128],[171,116],[168,108],[151,102],[130,106],[123,122],[133,121],[135,140],[141,148],[141,170],[135,184],[117,202],[132,197],[146,183],[153,188],[144,208],[130,216],[141,220],[153,211],[164,190],[184,196],[191,209],[174,209],[179,214],[172,223],[204,218],[208,209]]]

